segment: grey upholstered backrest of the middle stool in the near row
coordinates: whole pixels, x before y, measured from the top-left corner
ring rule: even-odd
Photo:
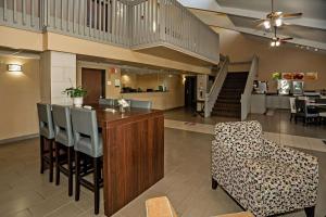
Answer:
[[[55,141],[66,146],[74,145],[70,106],[52,105]]]

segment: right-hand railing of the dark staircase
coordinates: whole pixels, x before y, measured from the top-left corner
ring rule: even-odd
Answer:
[[[259,68],[259,58],[254,55],[251,61],[251,66],[248,74],[246,88],[243,90],[243,93],[241,94],[241,120],[244,120],[250,112],[252,86],[253,86],[253,80],[258,75],[258,68]]]

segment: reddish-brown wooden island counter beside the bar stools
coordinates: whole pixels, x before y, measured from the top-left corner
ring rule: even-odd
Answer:
[[[104,213],[111,216],[163,178],[164,116],[158,110],[95,107],[103,137]]]

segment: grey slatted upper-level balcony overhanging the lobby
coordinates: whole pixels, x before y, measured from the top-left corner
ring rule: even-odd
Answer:
[[[220,61],[218,35],[176,0],[0,0],[0,25],[201,65]]]

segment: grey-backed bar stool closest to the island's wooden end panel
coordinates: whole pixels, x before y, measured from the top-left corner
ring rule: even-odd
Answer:
[[[103,150],[102,136],[98,130],[96,111],[77,107],[71,111],[75,138],[75,201],[79,200],[82,184],[95,192],[95,214],[99,214],[100,188],[103,187],[101,176]],[[93,173],[92,183],[84,178],[91,171]]]

